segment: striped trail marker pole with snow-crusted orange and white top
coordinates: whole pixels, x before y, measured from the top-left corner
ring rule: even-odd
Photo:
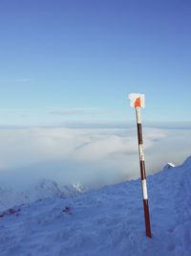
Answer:
[[[144,151],[143,151],[143,140],[142,140],[142,125],[141,125],[141,115],[140,109],[144,107],[144,94],[131,93],[129,94],[129,99],[131,101],[131,106],[136,109],[137,116],[137,126],[138,126],[138,153],[139,153],[139,166],[140,166],[140,177],[142,185],[142,198],[143,198],[143,208],[144,208],[144,221],[145,221],[145,232],[146,236],[151,238],[151,225],[149,217],[149,202],[148,193],[146,185],[146,171],[144,163]]]

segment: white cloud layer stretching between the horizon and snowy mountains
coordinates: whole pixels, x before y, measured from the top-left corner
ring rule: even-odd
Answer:
[[[143,130],[147,174],[190,155],[190,129]],[[135,128],[0,129],[0,179],[28,186],[36,179],[91,187],[137,178]]]

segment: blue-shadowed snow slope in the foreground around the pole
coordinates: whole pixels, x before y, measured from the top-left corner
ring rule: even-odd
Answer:
[[[139,180],[75,198],[46,198],[0,218],[0,255],[190,256],[191,157],[147,179],[152,239]]]

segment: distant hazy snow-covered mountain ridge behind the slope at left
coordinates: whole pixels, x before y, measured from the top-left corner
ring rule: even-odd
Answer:
[[[80,184],[60,186],[54,180],[47,178],[40,179],[35,185],[22,190],[1,184],[0,210],[5,210],[14,205],[28,203],[43,198],[73,198],[84,192],[86,192],[86,189]]]

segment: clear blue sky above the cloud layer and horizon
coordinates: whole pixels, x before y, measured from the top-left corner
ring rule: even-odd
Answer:
[[[188,0],[1,0],[0,125],[191,121]]]

